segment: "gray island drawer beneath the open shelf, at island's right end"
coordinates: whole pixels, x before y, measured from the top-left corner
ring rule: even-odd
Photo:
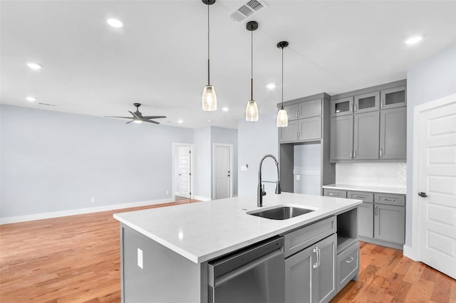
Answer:
[[[359,243],[353,243],[346,250],[337,255],[338,286],[340,291],[347,283],[358,275],[359,270]]]

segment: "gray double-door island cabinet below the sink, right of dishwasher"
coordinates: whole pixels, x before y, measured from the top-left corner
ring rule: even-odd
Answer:
[[[336,234],[285,260],[285,302],[329,302],[337,293]]]

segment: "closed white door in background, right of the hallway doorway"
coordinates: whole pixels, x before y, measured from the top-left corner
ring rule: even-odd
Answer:
[[[214,196],[216,199],[231,196],[231,147],[214,145]]]

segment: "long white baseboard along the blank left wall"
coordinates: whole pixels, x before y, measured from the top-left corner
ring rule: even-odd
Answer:
[[[97,213],[99,211],[113,211],[115,209],[138,207],[138,206],[149,206],[149,205],[161,204],[161,203],[167,203],[167,202],[172,202],[172,198],[163,198],[163,199],[152,200],[152,201],[140,201],[140,202],[131,202],[131,203],[122,203],[122,204],[112,204],[112,205],[107,205],[107,206],[97,206],[97,207],[89,207],[89,208],[78,208],[78,209],[71,209],[68,211],[53,211],[51,213],[36,213],[33,215],[26,215],[26,216],[5,217],[5,218],[0,218],[0,225],[33,221],[33,220],[42,220],[42,219],[82,215],[83,213]]]

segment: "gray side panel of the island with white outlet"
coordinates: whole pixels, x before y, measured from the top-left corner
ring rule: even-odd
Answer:
[[[201,275],[206,263],[196,264],[124,224],[120,238],[122,302],[207,302],[207,277]]]

